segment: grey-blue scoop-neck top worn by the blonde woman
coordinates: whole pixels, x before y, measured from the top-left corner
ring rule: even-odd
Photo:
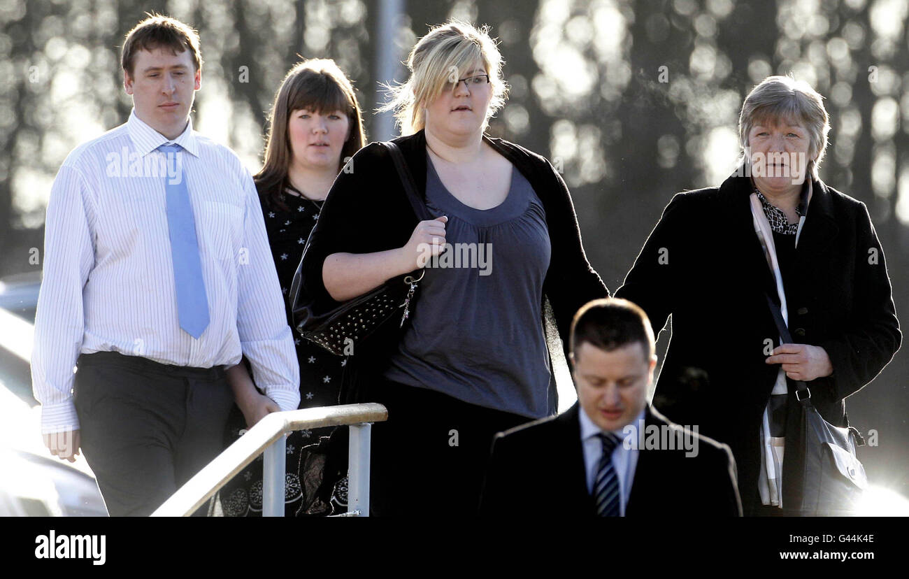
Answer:
[[[550,367],[543,282],[551,246],[543,204],[516,168],[504,201],[461,203],[426,163],[426,205],[447,215],[446,255],[426,265],[414,315],[385,378],[539,418]]]

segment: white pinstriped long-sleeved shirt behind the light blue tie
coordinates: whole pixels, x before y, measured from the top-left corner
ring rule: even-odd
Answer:
[[[155,152],[166,143],[184,148],[182,167]],[[181,168],[211,320],[197,340],[177,318],[165,214],[166,173]],[[125,125],[76,147],[56,175],[32,354],[43,433],[79,427],[76,359],[105,351],[200,368],[238,364],[245,355],[255,384],[282,410],[299,404],[294,337],[253,179],[192,121],[168,141],[134,110]]]

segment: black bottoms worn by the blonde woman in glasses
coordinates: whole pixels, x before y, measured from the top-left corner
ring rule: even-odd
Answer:
[[[369,399],[388,409],[372,429],[374,516],[476,516],[494,435],[533,420],[390,382]]]

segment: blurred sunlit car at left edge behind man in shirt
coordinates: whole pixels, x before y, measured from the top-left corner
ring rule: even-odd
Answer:
[[[85,458],[61,461],[41,438],[31,359],[40,272],[0,279],[0,516],[105,516]]]

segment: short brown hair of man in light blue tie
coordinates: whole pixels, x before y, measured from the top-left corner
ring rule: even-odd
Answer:
[[[148,17],[126,34],[120,53],[120,65],[130,77],[134,72],[135,54],[140,50],[151,51],[160,46],[170,48],[175,55],[188,50],[190,56],[193,57],[195,70],[202,70],[199,35],[192,26],[185,25],[170,16],[147,12],[145,15]]]

